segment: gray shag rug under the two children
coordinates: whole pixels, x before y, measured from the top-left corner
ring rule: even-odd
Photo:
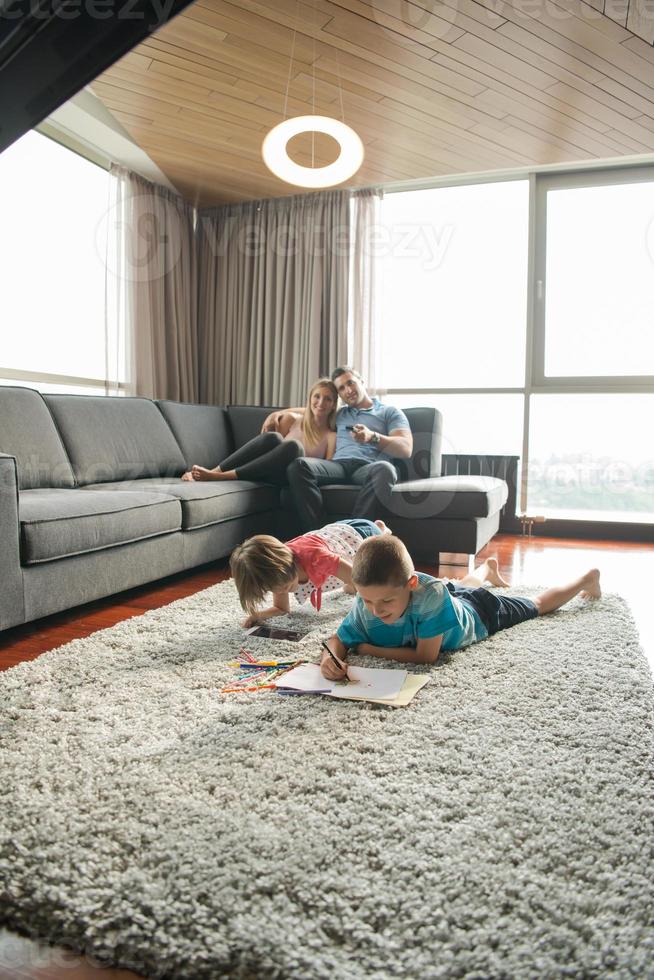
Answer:
[[[300,655],[349,602],[297,613]],[[412,667],[400,709],[221,695],[241,618],[226,582],[0,675],[6,925],[171,980],[654,977],[622,599]]]

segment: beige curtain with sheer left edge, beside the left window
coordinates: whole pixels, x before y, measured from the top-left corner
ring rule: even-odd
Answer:
[[[121,167],[111,174],[107,358],[127,364],[134,394],[198,401],[194,209]]]

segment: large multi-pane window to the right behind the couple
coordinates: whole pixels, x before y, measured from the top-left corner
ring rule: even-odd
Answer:
[[[382,216],[387,400],[440,408],[445,452],[521,455],[519,513],[654,522],[651,170],[387,194]]]

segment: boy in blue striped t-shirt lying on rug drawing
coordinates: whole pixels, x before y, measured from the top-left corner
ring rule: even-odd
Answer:
[[[355,649],[403,663],[433,664],[441,650],[459,650],[498,630],[554,612],[579,593],[599,598],[599,577],[593,568],[533,600],[498,596],[471,588],[470,576],[454,583],[415,572],[409,552],[394,535],[370,538],[352,565],[358,595],[336,635],[327,641],[320,668],[324,677],[340,680],[347,656]]]

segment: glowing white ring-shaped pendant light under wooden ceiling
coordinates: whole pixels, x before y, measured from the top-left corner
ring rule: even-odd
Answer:
[[[326,133],[341,152],[325,167],[302,167],[288,155],[289,140],[299,133]],[[297,187],[333,187],[357,172],[363,163],[363,143],[349,126],[329,116],[295,116],[285,119],[267,134],[261,147],[264,163],[275,176]]]

